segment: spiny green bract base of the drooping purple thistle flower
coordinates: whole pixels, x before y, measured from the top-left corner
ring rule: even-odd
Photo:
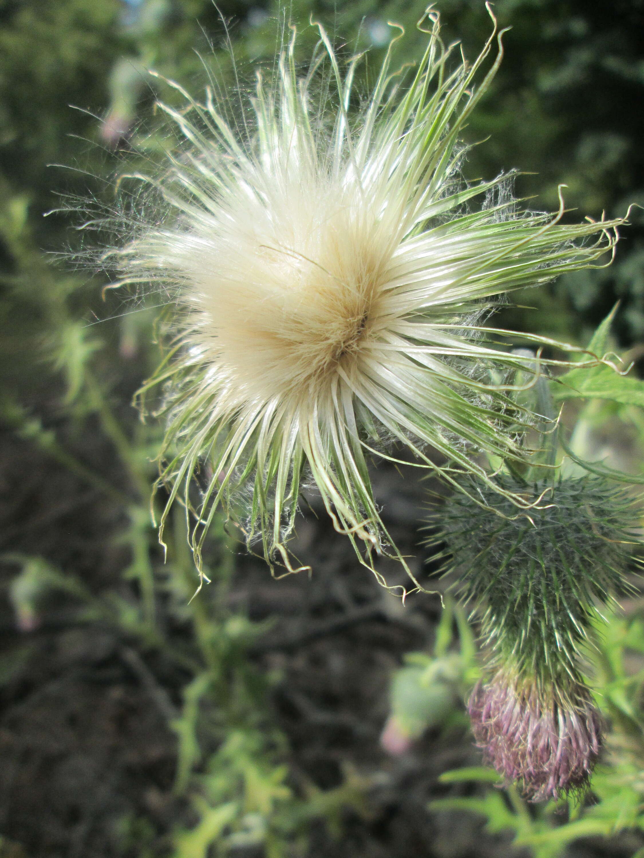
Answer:
[[[623,589],[638,526],[634,499],[596,476],[521,485],[508,493],[532,509],[519,512],[483,489],[483,505],[454,493],[441,511],[440,534],[459,592],[476,610],[491,671],[539,689],[583,683],[580,660],[601,606]],[[489,508],[486,509],[485,506]]]

